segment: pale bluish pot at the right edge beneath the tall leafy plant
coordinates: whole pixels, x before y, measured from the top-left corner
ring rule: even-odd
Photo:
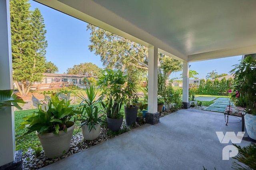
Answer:
[[[245,114],[244,124],[249,137],[256,140],[256,115]]]

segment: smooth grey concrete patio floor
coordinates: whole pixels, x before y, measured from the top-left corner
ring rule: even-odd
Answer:
[[[216,131],[237,134],[241,127],[241,122],[226,126],[223,113],[181,109],[156,125],[143,125],[41,169],[229,170],[234,159],[222,160],[222,149],[232,143],[220,143]],[[250,144],[244,139],[237,145]]]

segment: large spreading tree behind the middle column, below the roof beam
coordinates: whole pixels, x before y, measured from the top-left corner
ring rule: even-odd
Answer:
[[[146,73],[148,70],[148,48],[125,39],[114,33],[100,29],[94,25],[87,25],[90,30],[89,50],[100,55],[105,68],[116,68],[136,74]],[[159,72],[166,78],[174,71],[182,70],[182,62],[168,56],[158,54]]]

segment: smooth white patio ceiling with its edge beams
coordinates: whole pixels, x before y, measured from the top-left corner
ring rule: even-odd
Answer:
[[[181,61],[256,53],[255,0],[35,0]]]

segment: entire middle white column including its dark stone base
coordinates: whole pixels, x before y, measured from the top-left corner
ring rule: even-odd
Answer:
[[[159,123],[160,113],[157,112],[157,78],[158,48],[148,48],[148,113],[146,123]]]

